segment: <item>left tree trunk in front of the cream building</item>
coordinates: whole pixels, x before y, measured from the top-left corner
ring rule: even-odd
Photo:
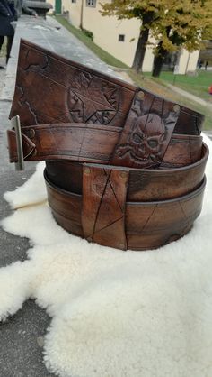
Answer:
[[[143,25],[150,25],[152,21],[152,14],[143,15]],[[133,60],[132,68],[139,72],[142,69],[142,65],[145,58],[146,44],[149,37],[149,28],[146,27],[144,30],[140,31],[139,38],[137,41],[137,50]]]

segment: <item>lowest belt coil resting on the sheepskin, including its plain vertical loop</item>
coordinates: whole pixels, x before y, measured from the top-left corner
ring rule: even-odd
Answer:
[[[190,231],[202,207],[206,179],[189,194],[160,201],[126,201],[128,170],[84,166],[83,193],[55,186],[44,174],[57,223],[90,242],[121,250],[155,249]]]

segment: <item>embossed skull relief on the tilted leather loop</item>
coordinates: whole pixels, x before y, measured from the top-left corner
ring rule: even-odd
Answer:
[[[119,146],[119,157],[129,153],[139,163],[155,163],[165,139],[165,125],[160,116],[150,113],[141,115],[129,134],[128,143]]]

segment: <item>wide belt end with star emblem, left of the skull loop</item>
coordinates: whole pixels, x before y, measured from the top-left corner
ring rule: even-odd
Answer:
[[[123,125],[135,88],[22,42],[11,117],[22,125]]]

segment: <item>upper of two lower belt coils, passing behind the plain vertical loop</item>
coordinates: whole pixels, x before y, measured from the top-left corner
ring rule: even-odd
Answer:
[[[115,167],[115,170],[128,169],[127,200],[147,202],[181,198],[199,187],[204,178],[208,160],[208,147],[202,145],[199,161],[180,168],[135,169]],[[87,166],[88,164],[86,164]],[[96,164],[90,164],[93,167]],[[101,165],[98,165],[101,166]],[[102,169],[109,165],[102,165]],[[47,161],[46,175],[55,187],[73,194],[83,195],[84,163],[72,161]],[[95,182],[93,185],[95,186]]]

